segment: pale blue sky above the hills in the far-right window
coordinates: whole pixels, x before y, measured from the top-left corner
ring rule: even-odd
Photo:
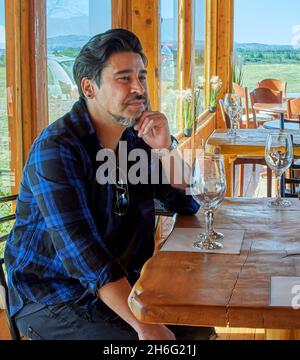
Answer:
[[[300,39],[300,0],[235,0],[234,37],[239,43],[292,45]]]

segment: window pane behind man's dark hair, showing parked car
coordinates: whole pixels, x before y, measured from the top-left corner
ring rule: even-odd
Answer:
[[[111,28],[110,0],[47,0],[49,122],[78,98],[73,64],[90,37]]]

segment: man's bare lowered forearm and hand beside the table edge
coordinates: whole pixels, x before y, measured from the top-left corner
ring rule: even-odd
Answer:
[[[126,278],[110,282],[99,291],[100,299],[125,320],[138,334],[140,340],[175,340],[171,330],[162,324],[142,323],[131,312],[128,297],[132,288]]]

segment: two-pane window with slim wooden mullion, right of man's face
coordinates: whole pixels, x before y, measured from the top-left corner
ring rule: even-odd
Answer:
[[[161,0],[160,4],[161,110],[167,115],[173,134],[179,135],[184,130],[189,136],[194,120],[205,108],[206,0]],[[191,110],[191,102],[194,102],[194,110]]]

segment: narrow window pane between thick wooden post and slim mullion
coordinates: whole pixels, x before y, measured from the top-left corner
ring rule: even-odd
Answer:
[[[176,134],[178,117],[177,90],[177,51],[178,51],[178,1],[161,0],[161,41],[160,41],[160,102],[161,111],[169,119],[170,131]]]

